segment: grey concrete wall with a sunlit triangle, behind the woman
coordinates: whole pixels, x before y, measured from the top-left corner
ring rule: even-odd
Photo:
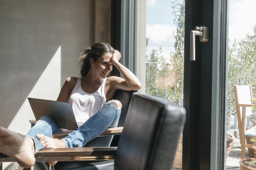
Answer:
[[[110,3],[0,0],[1,126],[26,134],[34,119],[27,97],[57,99],[66,78],[79,76],[84,47],[110,43]]]

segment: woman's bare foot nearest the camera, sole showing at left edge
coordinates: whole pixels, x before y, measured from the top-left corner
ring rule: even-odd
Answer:
[[[23,168],[30,168],[35,164],[33,139],[3,127],[0,127],[0,152],[12,157]]]

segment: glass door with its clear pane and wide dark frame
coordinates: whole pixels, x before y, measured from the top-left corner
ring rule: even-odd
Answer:
[[[225,168],[226,33],[226,1],[147,1],[146,94],[187,110],[182,169]]]

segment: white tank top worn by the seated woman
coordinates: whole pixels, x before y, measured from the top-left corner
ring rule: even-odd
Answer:
[[[77,126],[81,126],[90,117],[97,113],[107,103],[105,97],[105,83],[103,79],[100,87],[92,94],[87,94],[81,87],[81,78],[77,79],[76,85],[69,97],[69,103],[73,108]]]

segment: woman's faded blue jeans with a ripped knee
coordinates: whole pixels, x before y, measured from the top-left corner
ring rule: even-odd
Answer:
[[[83,147],[85,144],[98,135],[103,133],[108,128],[117,126],[121,108],[118,109],[116,103],[108,101],[99,112],[89,118],[82,126],[77,128],[76,131],[68,134],[67,137],[61,139],[66,142],[67,148]],[[29,130],[27,136],[32,138],[35,143],[35,154],[44,149],[40,141],[35,137],[36,134],[44,134],[47,137],[52,137],[53,133],[62,132],[58,125],[47,116],[42,116],[36,122],[35,126]],[[109,146],[113,135],[109,137],[99,137],[93,141],[93,146]]]

